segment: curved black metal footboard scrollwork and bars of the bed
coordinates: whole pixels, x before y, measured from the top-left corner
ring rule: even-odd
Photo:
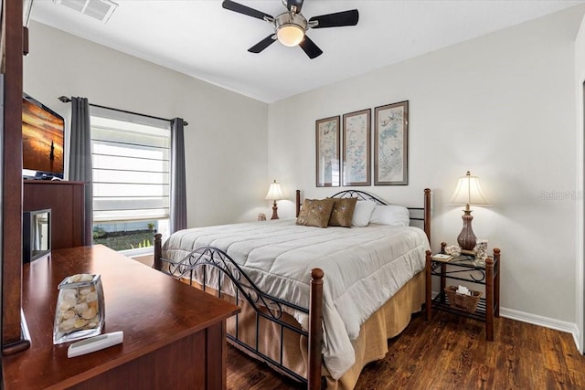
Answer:
[[[278,370],[281,370],[282,373],[293,377],[293,379],[299,382],[307,384],[307,378],[283,364],[283,343],[285,330],[297,333],[307,339],[309,339],[309,332],[303,331],[300,327],[294,327],[282,319],[283,312],[291,314],[293,311],[301,311],[305,314],[309,314],[307,308],[273,297],[262,291],[250,279],[246,272],[239,267],[239,264],[230,258],[227,253],[218,248],[197,248],[180,261],[159,258],[159,264],[159,270],[167,275],[176,279],[188,279],[191,285],[197,283],[203,290],[206,290],[207,288],[214,289],[217,291],[218,298],[222,298],[222,296],[227,294],[236,300],[236,304],[238,304],[240,300],[246,300],[250,304],[250,307],[254,309],[256,315],[255,345],[245,343],[239,338],[240,314],[236,314],[235,334],[227,334],[229,340],[232,343],[238,344],[249,353],[258,356],[262,361],[272,364]],[[214,273],[210,269],[218,269],[219,272]],[[222,278],[221,276],[225,278]],[[259,343],[261,339],[261,318],[278,325],[277,329],[280,330],[280,353],[278,359],[274,359],[266,353],[261,352]]]

